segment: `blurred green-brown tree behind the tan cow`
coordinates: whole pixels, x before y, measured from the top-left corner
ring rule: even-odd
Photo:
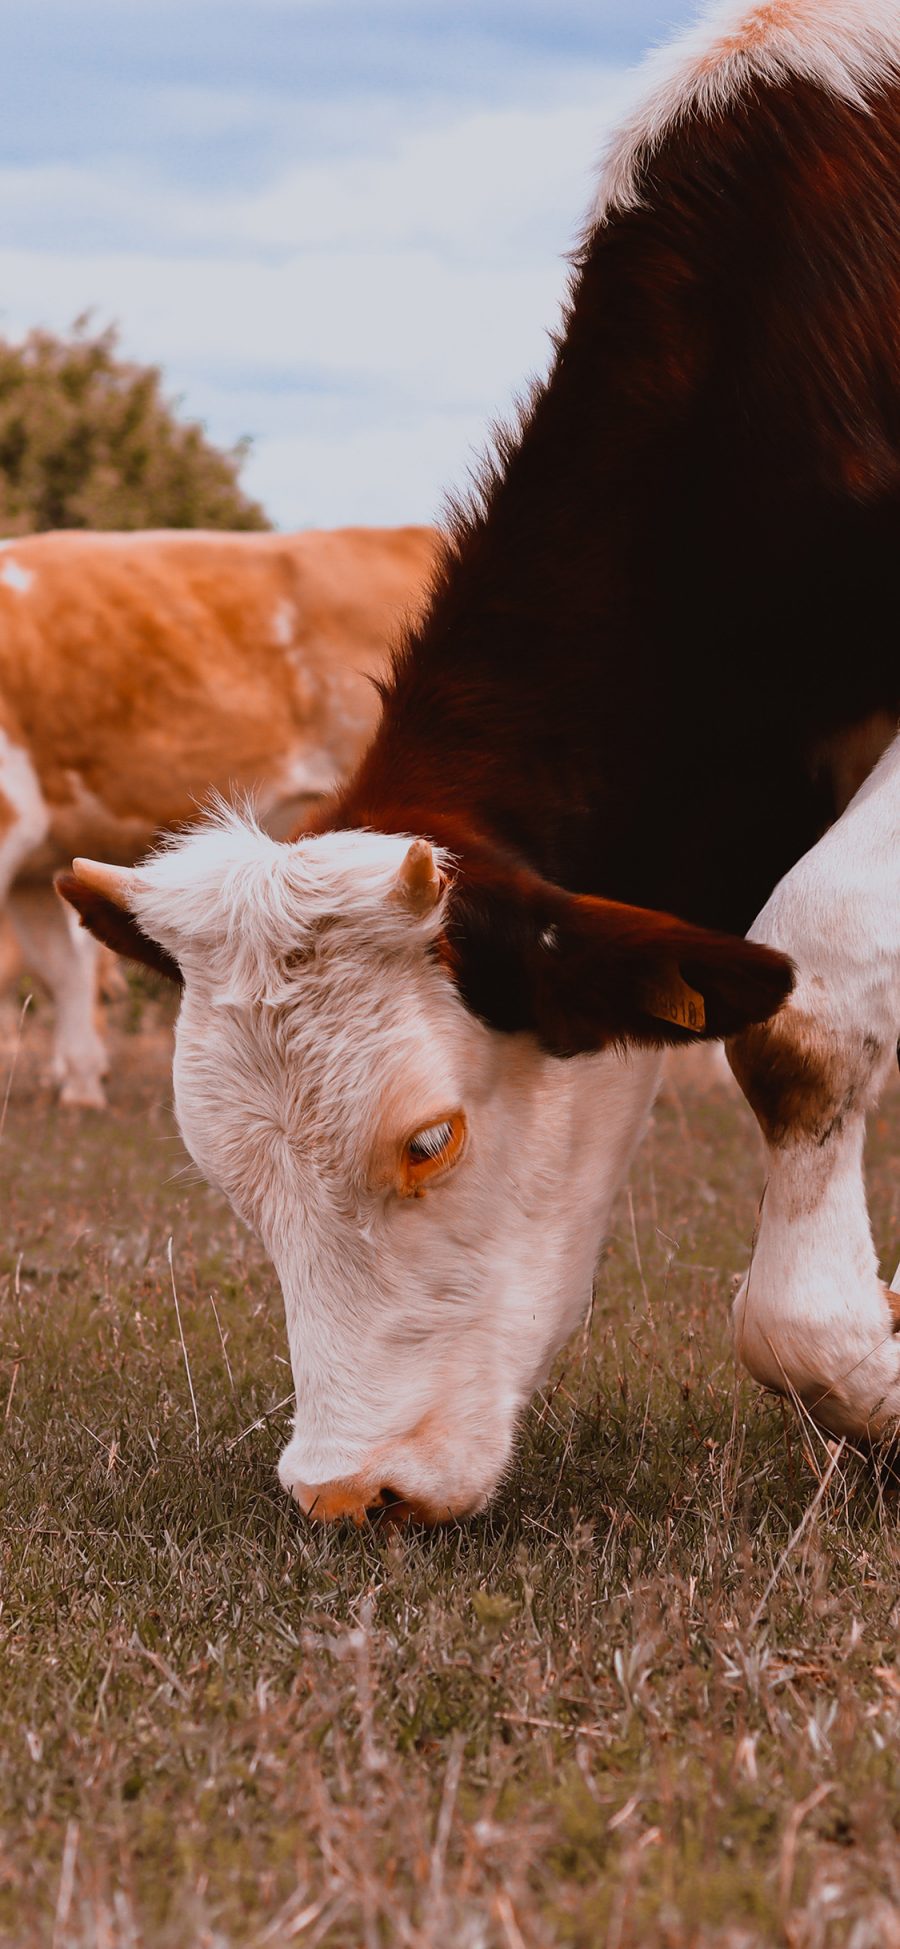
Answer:
[[[0,534],[39,528],[269,528],[220,450],[177,417],[158,366],[76,318],[68,337],[0,339]]]

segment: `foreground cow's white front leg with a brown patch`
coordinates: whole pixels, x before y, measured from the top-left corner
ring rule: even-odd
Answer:
[[[729,1047],[769,1167],[736,1353],[822,1427],[879,1434],[900,1417],[900,1300],[879,1277],[863,1138],[900,1029],[900,739],[750,937],[793,955],[799,980]]]

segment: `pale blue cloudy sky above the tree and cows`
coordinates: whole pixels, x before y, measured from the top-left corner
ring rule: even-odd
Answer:
[[[164,368],[281,528],[440,518],[692,0],[0,0],[0,333]]]

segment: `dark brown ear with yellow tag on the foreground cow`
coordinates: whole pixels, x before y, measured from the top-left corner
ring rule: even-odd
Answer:
[[[557,1056],[736,1035],[793,988],[785,955],[514,873],[460,879],[448,951],[468,1006]]]

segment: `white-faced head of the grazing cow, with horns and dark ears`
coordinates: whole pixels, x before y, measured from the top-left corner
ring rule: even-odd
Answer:
[[[316,1516],[483,1507],[584,1314],[658,1051],[791,988],[773,951],[495,852],[222,815],[62,891],[183,980],[175,1107],[284,1292]]]

